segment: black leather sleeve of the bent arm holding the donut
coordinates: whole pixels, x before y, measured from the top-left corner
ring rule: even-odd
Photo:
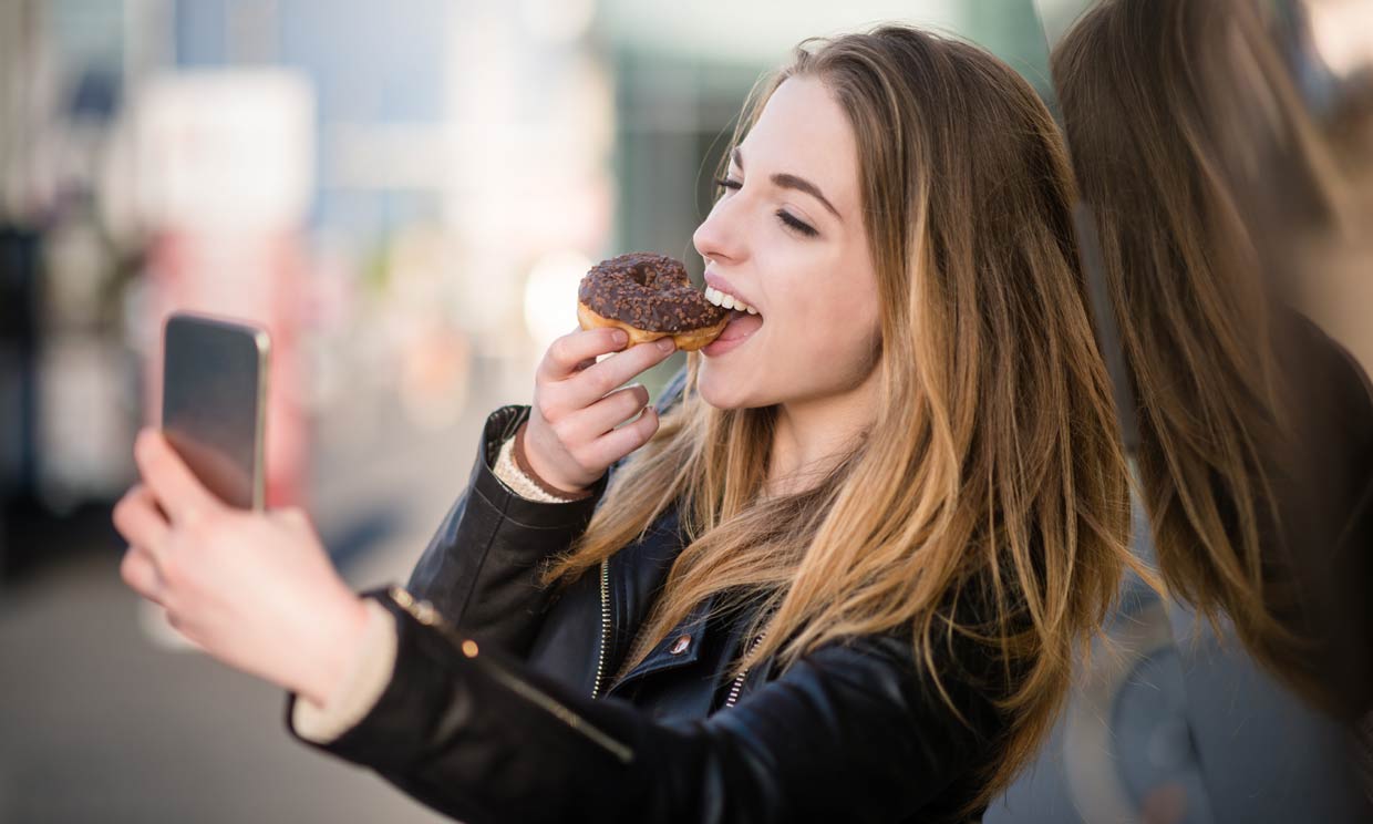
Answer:
[[[556,596],[538,585],[542,562],[571,547],[590,522],[605,478],[590,497],[542,503],[496,477],[501,444],[529,417],[503,407],[487,417],[467,490],[449,510],[411,573],[408,589],[475,640],[523,656]]]

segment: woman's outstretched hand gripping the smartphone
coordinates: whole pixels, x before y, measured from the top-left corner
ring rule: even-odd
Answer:
[[[299,510],[235,510],[200,485],[166,439],[135,442],[143,483],[114,508],[129,541],[124,581],[224,663],[323,705],[367,623]]]

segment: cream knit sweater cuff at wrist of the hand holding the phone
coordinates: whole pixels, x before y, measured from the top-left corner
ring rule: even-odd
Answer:
[[[295,732],[317,744],[327,744],[357,726],[373,706],[395,670],[395,617],[375,599],[365,599],[367,629],[336,692],[324,706],[299,696],[291,711]]]

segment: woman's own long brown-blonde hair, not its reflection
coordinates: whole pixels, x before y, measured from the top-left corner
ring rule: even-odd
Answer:
[[[706,405],[693,354],[685,400],[546,580],[575,578],[676,503],[689,545],[649,641],[711,596],[762,603],[751,629],[766,634],[739,670],[898,632],[956,714],[945,652],[975,643],[1000,673],[987,694],[1006,729],[989,799],[1050,728],[1127,558],[1127,471],[1067,158],[1015,71],[898,26],[802,43],[755,88],[736,144],[789,77],[822,81],[857,136],[881,305],[875,420],[816,486],[763,499],[774,409]]]

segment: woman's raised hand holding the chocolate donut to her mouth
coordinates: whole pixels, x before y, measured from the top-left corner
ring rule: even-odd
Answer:
[[[676,346],[671,338],[660,338],[623,349],[627,342],[623,330],[578,330],[553,341],[544,354],[534,376],[524,459],[551,486],[564,492],[592,486],[658,431],[648,390],[638,383],[615,387],[660,364]]]

